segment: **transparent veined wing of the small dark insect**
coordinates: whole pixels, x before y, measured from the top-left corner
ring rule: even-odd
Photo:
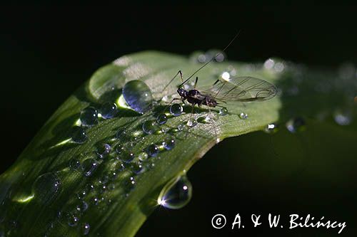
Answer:
[[[206,90],[201,90],[203,95],[209,95],[223,102],[230,101],[261,101],[273,98],[276,87],[258,78],[235,77],[229,80],[217,80],[216,83]]]

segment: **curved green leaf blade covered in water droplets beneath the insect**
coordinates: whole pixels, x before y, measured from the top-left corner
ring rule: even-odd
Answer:
[[[130,80],[142,80],[149,85],[154,99],[159,101],[164,96],[176,95],[177,85],[181,82],[178,78],[165,91],[163,89],[178,70],[186,78],[201,65],[192,58],[145,51],[123,56],[97,70],[52,115],[16,163],[1,174],[0,230],[9,236],[78,236],[86,231],[84,224],[88,223],[89,233],[93,236],[98,233],[101,236],[134,236],[158,206],[157,199],[164,186],[184,175],[216,144],[217,139],[263,130],[269,123],[278,121],[281,112],[279,96],[263,102],[228,104],[226,116],[218,115],[215,108],[211,114],[216,115],[216,122],[200,120],[195,127],[177,131],[178,125],[189,118],[208,114],[207,108],[198,107],[191,114],[191,107],[187,105],[183,115],[169,116],[168,122],[161,126],[169,132],[145,135],[143,123],[155,120],[168,102],[159,102],[153,110],[140,115],[119,100],[121,88]],[[262,78],[273,84],[286,75],[268,70],[262,64],[213,62],[197,73],[198,86],[212,85],[221,73],[233,68],[239,75]],[[99,118],[98,125],[86,130],[89,139],[84,144],[71,142],[71,128],[78,124],[81,110],[88,106],[98,108],[108,101],[122,105],[119,114],[110,120]],[[248,118],[242,119],[241,112]],[[117,139],[119,130],[126,134]],[[125,164],[126,168],[119,171],[120,163],[116,157],[120,155],[115,152],[119,145],[124,148],[132,145],[133,162],[138,162],[138,155],[151,144],[160,145],[169,138],[175,140],[174,149],[161,147],[156,157],[143,162],[144,171],[140,174],[133,174],[131,164]],[[96,151],[104,143],[113,149],[109,157],[98,159]],[[84,165],[84,160],[89,158],[96,159],[98,164],[88,177],[80,168],[69,167],[70,162],[74,164],[76,160]],[[131,177],[134,177],[134,185]],[[88,204],[88,209],[82,201]],[[81,211],[76,211],[77,206]],[[67,218],[69,214],[78,220],[73,216]]]

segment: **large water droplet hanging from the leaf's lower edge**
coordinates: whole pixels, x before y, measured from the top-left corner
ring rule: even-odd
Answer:
[[[186,175],[166,184],[158,198],[158,204],[168,209],[181,209],[191,200],[192,186]]]

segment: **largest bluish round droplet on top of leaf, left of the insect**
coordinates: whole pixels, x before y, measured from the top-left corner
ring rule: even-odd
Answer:
[[[124,85],[124,99],[128,105],[139,113],[144,113],[151,108],[153,96],[148,85],[141,80],[131,80]]]

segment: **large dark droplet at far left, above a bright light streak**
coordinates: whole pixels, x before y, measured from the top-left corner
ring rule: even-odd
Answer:
[[[42,204],[53,201],[61,188],[61,181],[54,173],[46,173],[39,176],[32,184],[32,194]]]

